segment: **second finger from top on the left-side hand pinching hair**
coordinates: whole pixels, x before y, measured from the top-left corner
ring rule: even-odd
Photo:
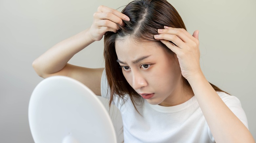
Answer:
[[[124,26],[122,19],[120,19],[118,16],[110,12],[96,12],[94,13],[94,18],[110,20],[110,21],[113,21],[114,23]]]

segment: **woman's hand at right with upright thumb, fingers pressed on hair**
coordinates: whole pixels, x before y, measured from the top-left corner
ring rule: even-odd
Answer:
[[[158,29],[159,35],[154,37],[177,55],[182,75],[189,81],[198,74],[203,74],[200,68],[199,31],[196,30],[192,36],[185,29],[168,26],[164,28]]]

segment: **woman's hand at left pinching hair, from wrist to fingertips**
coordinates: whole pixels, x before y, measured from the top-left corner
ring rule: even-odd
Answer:
[[[117,24],[124,26],[122,20],[130,20],[128,16],[106,6],[99,6],[93,16],[94,21],[89,32],[91,39],[95,41],[101,40],[107,31],[117,32],[119,29]]]

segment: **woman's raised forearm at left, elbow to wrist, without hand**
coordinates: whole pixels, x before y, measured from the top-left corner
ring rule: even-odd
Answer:
[[[94,42],[90,38],[88,31],[89,29],[84,30],[57,43],[35,59],[32,66],[36,73],[41,77],[47,77],[49,74],[62,70],[76,53]]]

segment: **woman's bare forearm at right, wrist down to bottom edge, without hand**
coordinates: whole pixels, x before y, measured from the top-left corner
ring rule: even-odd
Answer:
[[[216,142],[255,142],[245,125],[226,106],[204,77],[189,80]]]

